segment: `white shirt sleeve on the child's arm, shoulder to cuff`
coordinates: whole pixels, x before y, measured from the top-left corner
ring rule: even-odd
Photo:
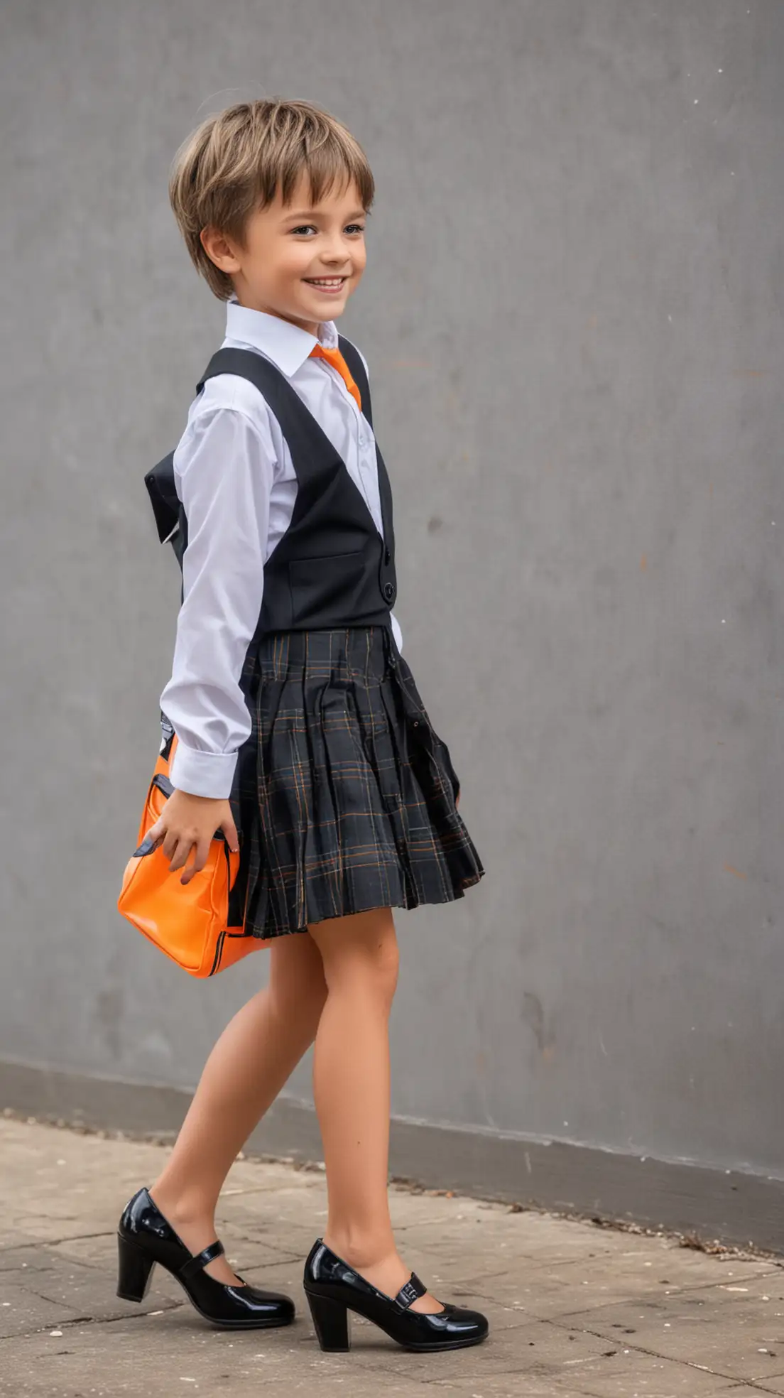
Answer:
[[[275,456],[266,424],[198,414],[175,456],[187,517],[172,677],[161,693],[177,745],[175,787],[226,798],[252,720],[239,678],[261,608]]]

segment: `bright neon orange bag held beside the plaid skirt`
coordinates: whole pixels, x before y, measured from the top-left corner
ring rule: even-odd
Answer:
[[[164,846],[152,849],[147,832],[159,819],[175,790],[169,765],[177,735],[161,748],[147,791],[138,826],[138,846],[123,874],[117,909],[166,956],[191,976],[214,976],[270,938],[253,937],[243,927],[228,927],[229,893],[235,885],[240,853],[233,854],[222,830],[215,830],[203,870],[182,884],[182,868],[169,870],[170,856]],[[239,832],[242,850],[242,832]]]

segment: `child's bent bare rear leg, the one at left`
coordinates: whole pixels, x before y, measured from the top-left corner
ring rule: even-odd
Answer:
[[[175,1148],[150,1190],[191,1253],[215,1240],[215,1206],[229,1167],[313,1043],[327,997],[321,956],[305,932],[281,937],[268,955],[268,986],[215,1043]],[[238,1282],[225,1257],[205,1271],[219,1282]]]

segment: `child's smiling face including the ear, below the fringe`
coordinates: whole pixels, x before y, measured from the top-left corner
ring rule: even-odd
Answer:
[[[238,301],[317,334],[345,310],[365,271],[365,225],[354,180],[335,180],[317,206],[303,173],[284,206],[280,190],[245,225],[245,246],[214,228],[201,232],[208,257],[229,274]],[[327,282],[327,285],[320,285]]]

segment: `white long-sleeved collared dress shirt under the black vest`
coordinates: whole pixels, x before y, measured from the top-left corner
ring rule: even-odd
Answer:
[[[334,320],[320,323],[319,341],[338,347]],[[345,461],[383,537],[373,429],[337,369],[309,358],[316,343],[280,316],[236,299],[226,303],[221,348],[254,350],[285,373]],[[368,368],[365,355],[362,362]],[[172,677],[161,693],[177,735],[169,776],[194,795],[228,797],[238,749],[252,728],[239,678],[261,610],[264,563],[291,523],[296,475],[264,397],[232,373],[208,379],[193,400],[173,467],[187,548]],[[395,617],[391,628],[400,650]]]

